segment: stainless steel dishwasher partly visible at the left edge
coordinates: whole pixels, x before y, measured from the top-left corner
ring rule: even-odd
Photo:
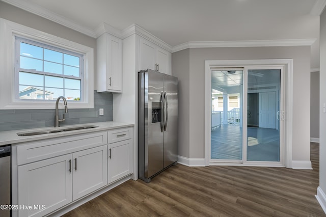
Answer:
[[[0,146],[0,216],[11,215],[11,145]],[[7,206],[6,206],[7,205]]]

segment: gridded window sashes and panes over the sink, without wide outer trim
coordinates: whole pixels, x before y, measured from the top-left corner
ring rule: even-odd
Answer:
[[[16,37],[16,99],[80,101],[83,55]]]

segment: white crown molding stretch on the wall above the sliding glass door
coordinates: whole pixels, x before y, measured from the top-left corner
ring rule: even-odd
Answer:
[[[311,46],[316,39],[252,40],[252,41],[191,41],[174,46],[172,52],[187,48],[206,47],[277,47]]]

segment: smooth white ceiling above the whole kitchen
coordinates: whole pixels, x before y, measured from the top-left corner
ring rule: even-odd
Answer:
[[[317,39],[325,0],[3,0],[88,34],[102,23],[133,23],[172,47],[194,41]],[[89,35],[89,34],[88,34]]]

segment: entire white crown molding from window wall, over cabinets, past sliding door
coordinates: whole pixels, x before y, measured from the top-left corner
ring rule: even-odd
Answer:
[[[152,35],[148,31],[143,29],[138,24],[132,24],[128,26],[126,29],[121,31],[114,28],[110,24],[102,22],[97,26],[96,29],[91,30],[85,28],[82,25],[79,25],[78,23],[68,20],[63,16],[60,16],[44,8],[38,7],[35,4],[30,4],[28,1],[22,1],[22,0],[1,0],[1,1],[13,5],[15,7],[21,8],[23,10],[29,11],[33,14],[36,14],[38,16],[41,16],[53,22],[57,22],[61,25],[64,25],[72,30],[88,35],[92,38],[97,38],[103,33],[109,33],[120,39],[125,39],[132,34],[137,34],[157,44],[161,48],[168,50],[169,52],[177,52],[179,50],[183,50],[187,48],[205,48],[205,47],[310,46],[316,40],[316,39],[286,39],[286,40],[252,40],[252,41],[198,41],[198,42],[191,41],[172,47],[168,43],[160,40],[156,36]],[[322,8],[323,10],[325,5],[326,5],[326,0],[317,0],[312,11],[314,10],[314,8],[316,9]],[[320,14],[322,10],[320,10]]]

